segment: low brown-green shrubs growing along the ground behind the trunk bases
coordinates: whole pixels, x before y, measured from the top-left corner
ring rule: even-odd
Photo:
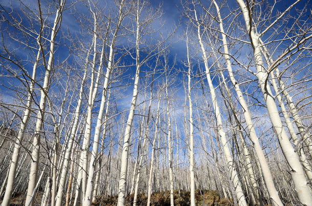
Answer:
[[[125,205],[131,206],[133,204],[133,194],[126,197]],[[93,206],[116,206],[118,196],[99,196],[92,203]],[[195,192],[195,203],[198,206],[230,206],[233,205],[229,199],[220,198],[216,191],[199,191]],[[138,195],[137,205],[145,206],[147,204],[147,195],[141,193]],[[159,192],[151,195],[151,206],[170,206],[170,192]],[[190,192],[174,191],[174,205],[175,206],[189,206]]]

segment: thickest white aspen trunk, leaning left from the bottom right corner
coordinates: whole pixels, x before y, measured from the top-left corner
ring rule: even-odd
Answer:
[[[261,43],[259,42],[258,35],[252,30],[250,27],[252,25],[251,19],[249,17],[249,11],[242,0],[236,0],[238,5],[240,6],[244,20],[246,22],[247,32],[250,37],[250,41],[253,44],[253,51],[254,51],[254,60],[256,63],[257,68],[257,78],[259,85],[261,87],[261,91],[263,93],[263,97],[265,99],[266,106],[268,108],[269,116],[274,128],[274,131],[278,137],[279,144],[282,148],[283,155],[291,167],[291,171],[289,171],[292,175],[292,179],[294,182],[295,190],[299,197],[299,200],[302,204],[307,206],[312,205],[312,193],[307,185],[307,180],[304,175],[304,170],[300,163],[299,155],[293,148],[291,142],[287,137],[287,133],[284,130],[282,121],[280,119],[277,107],[275,105],[275,99],[272,95],[270,87],[265,84],[266,78],[268,78],[268,73],[264,70],[264,65],[261,56]]]

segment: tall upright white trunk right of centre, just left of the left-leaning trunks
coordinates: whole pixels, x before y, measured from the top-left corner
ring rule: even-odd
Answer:
[[[189,122],[190,122],[190,144],[189,144],[189,158],[190,158],[190,185],[191,185],[191,206],[195,206],[195,179],[194,179],[194,128],[193,128],[193,109],[192,109],[192,98],[191,98],[191,63],[189,58],[189,46],[188,46],[188,35],[186,33],[186,49],[187,49],[187,63],[188,63],[188,101],[189,101]]]

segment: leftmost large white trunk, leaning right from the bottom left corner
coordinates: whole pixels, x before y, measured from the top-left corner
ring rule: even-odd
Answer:
[[[24,139],[25,130],[28,124],[28,120],[30,118],[30,113],[31,113],[31,106],[33,102],[33,92],[34,92],[35,81],[36,81],[37,65],[39,62],[40,53],[41,53],[41,46],[39,45],[39,49],[38,49],[37,56],[36,56],[36,61],[33,66],[33,73],[31,77],[32,80],[30,81],[30,85],[29,85],[29,91],[28,91],[27,102],[26,102],[26,107],[25,107],[26,109],[24,111],[23,119],[20,122],[19,130],[17,133],[17,138],[14,144],[14,150],[12,154],[10,168],[8,169],[8,174],[7,174],[8,177],[6,178],[7,186],[6,186],[6,192],[5,192],[2,204],[1,204],[2,206],[8,206],[11,196],[12,196],[13,186],[15,183],[16,168],[17,168],[17,163],[19,159],[20,147]],[[1,196],[2,194],[0,194],[0,198]]]

